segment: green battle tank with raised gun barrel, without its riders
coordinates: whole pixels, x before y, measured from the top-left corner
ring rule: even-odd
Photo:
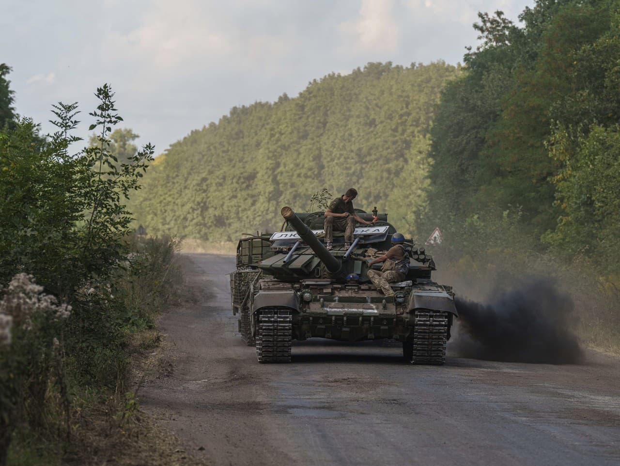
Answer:
[[[323,213],[296,214],[288,206],[281,209],[281,231],[239,240],[237,268],[230,274],[232,311],[260,363],[288,363],[293,340],[315,337],[395,340],[410,363],[445,363],[458,317],[451,286],[435,283],[433,258],[405,240],[409,271],[402,282],[391,283],[394,296],[384,296],[368,279],[368,259],[392,246],[396,229],[376,208],[357,214],[374,223],[356,227],[350,247],[334,232],[334,247],[327,250]]]

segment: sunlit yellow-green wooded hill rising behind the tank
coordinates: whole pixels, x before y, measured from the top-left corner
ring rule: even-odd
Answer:
[[[281,206],[307,209],[324,187],[355,187],[356,207],[378,206],[413,232],[427,204],[434,108],[459,74],[443,62],[370,63],[298,97],[235,107],[172,144],[131,208],[152,234],[234,239],[279,227]]]

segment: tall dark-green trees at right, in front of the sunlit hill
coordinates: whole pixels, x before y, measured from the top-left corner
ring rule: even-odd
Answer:
[[[620,271],[620,2],[539,0],[523,27],[480,20],[432,128],[427,221],[456,237],[472,216],[511,212],[530,248]]]

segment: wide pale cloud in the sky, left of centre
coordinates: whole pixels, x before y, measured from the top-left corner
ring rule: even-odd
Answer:
[[[133,30],[110,33],[106,55],[148,64],[154,71],[204,69],[221,63],[237,68],[281,59],[292,50],[290,33],[286,28],[284,32],[245,28],[234,15],[219,11],[216,2],[157,0]]]

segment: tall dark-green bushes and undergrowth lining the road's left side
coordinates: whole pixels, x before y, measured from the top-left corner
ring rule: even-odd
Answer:
[[[26,118],[0,131],[0,464],[13,437],[19,456],[28,439],[58,450],[59,437],[79,436],[81,397],[135,409],[131,335],[154,327],[177,286],[176,243],[129,236],[125,202],[153,147],[122,144],[135,134],[112,132],[122,118],[110,87],[97,96],[96,144],[77,154],[76,104],[53,106],[47,139]]]

